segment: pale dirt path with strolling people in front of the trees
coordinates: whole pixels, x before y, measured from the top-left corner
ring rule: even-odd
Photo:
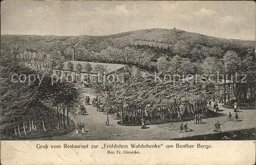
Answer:
[[[94,96],[89,96],[91,101]],[[150,125],[148,129],[140,129],[140,126],[120,126],[117,124],[117,120],[110,117],[109,122],[111,126],[105,126],[106,115],[103,112],[97,112],[96,108],[92,105],[86,106],[88,115],[77,115],[73,118],[75,123],[81,122],[85,124],[87,133],[76,134],[75,131],[61,136],[55,136],[45,139],[52,140],[168,140],[172,138],[180,138],[186,136],[195,136],[213,133],[214,124],[216,121],[224,123],[226,116],[214,117],[209,119],[203,119],[204,124],[195,125],[191,122],[188,123],[188,127],[194,131],[179,133],[177,130],[181,122],[178,123],[166,123],[159,125]],[[221,113],[227,114],[231,112],[234,115],[232,109],[224,108],[219,104],[219,109],[223,110]],[[241,122],[227,121],[221,126],[222,131],[239,130],[246,128],[255,128],[255,110],[242,110],[238,113],[242,119]]]

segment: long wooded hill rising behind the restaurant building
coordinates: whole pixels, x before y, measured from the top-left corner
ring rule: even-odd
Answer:
[[[152,61],[159,57],[172,58],[179,55],[191,62],[202,62],[206,57],[223,58],[227,51],[236,52],[243,57],[248,49],[255,49],[255,41],[210,37],[175,28],[137,30],[108,36],[1,35],[2,51],[11,50],[16,54],[24,51],[36,54],[44,52],[44,58],[46,55],[59,54],[65,60],[70,60],[70,50],[74,45],[76,60],[130,64],[133,62],[126,61],[125,58],[128,57],[120,54],[127,56],[127,52],[130,52],[131,59],[139,54],[127,51],[127,48],[139,52],[149,50],[147,53],[152,55]]]

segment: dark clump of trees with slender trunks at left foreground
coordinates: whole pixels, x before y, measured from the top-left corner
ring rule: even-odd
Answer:
[[[75,84],[31,69],[3,54],[1,131],[27,135],[28,130],[69,127],[69,113],[80,101]],[[62,114],[62,117],[61,117]],[[56,120],[57,119],[57,120]],[[67,125],[65,123],[67,119]],[[27,127],[29,123],[29,127]],[[24,133],[20,133],[20,127]]]

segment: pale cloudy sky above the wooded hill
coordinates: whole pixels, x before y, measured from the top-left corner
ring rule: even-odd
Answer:
[[[1,34],[109,35],[174,28],[255,40],[252,1],[4,1]]]

